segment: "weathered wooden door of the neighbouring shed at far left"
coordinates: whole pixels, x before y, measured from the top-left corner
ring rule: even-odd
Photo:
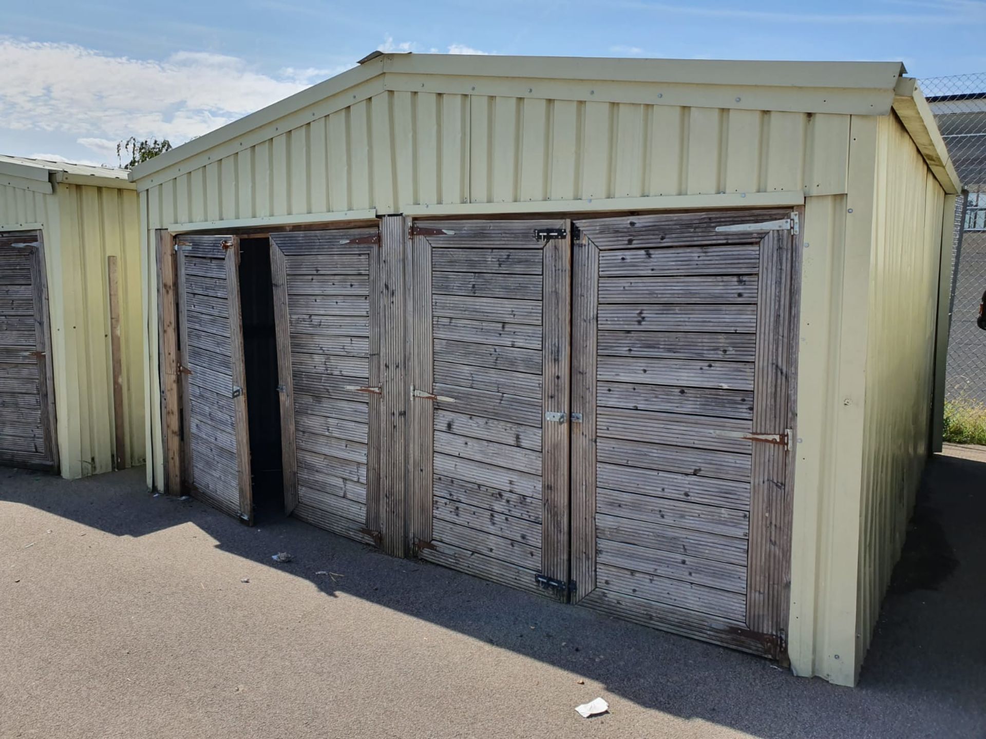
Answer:
[[[44,248],[0,233],[0,464],[57,471]]]

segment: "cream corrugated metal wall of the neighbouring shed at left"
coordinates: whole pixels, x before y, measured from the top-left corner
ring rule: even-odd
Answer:
[[[106,257],[117,257],[128,463],[145,458],[140,225],[129,189],[0,187],[0,226],[40,225],[47,267],[58,450],[64,477],[112,469],[113,401]]]

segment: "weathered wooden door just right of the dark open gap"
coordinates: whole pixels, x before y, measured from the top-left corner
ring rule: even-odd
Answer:
[[[270,240],[285,507],[321,528],[379,543],[380,232]]]

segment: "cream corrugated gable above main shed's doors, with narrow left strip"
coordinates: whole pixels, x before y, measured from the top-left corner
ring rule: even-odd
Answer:
[[[326,104],[270,124],[270,138],[234,154],[219,157],[219,148],[215,159],[190,162],[201,166],[159,172],[142,190],[149,367],[158,366],[156,229],[435,204],[825,195],[847,186],[849,115],[413,92],[318,114]],[[297,120],[308,122],[289,127]],[[149,375],[148,485],[160,487],[161,389]]]

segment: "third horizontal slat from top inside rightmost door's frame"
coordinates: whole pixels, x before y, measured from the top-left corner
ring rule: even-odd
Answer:
[[[599,330],[752,333],[756,305],[599,305]]]

